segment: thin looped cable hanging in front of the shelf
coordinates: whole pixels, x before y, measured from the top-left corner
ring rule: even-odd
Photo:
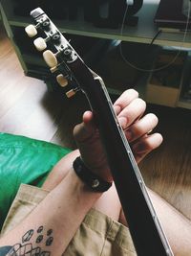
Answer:
[[[122,24],[121,24],[121,28],[120,28],[120,35],[122,36],[123,35],[123,31],[124,31],[124,25],[125,25],[125,19],[126,19],[126,15],[127,15],[127,11],[128,11],[128,8],[129,8],[129,5],[128,5],[128,0],[127,0],[127,3],[126,3],[127,7],[126,7],[126,10],[124,12],[124,15],[123,15],[123,19],[122,19]],[[143,71],[143,72],[155,72],[155,71],[159,71],[159,70],[163,70],[169,66],[171,66],[176,60],[177,58],[179,58],[180,56],[180,52],[183,48],[183,45],[184,45],[184,42],[185,42],[185,38],[186,38],[186,35],[188,34],[188,26],[189,26],[189,19],[190,19],[190,12],[191,12],[191,2],[188,1],[188,12],[187,12],[187,20],[186,20],[186,25],[185,25],[185,30],[184,30],[184,33],[183,33],[183,38],[182,38],[182,41],[181,41],[181,45],[179,47],[179,52],[176,54],[176,56],[167,64],[164,64],[162,66],[160,66],[159,68],[151,68],[151,69],[146,69],[146,68],[140,68],[138,67],[136,64],[134,64],[133,62],[131,62],[130,60],[128,60],[123,52],[122,52],[122,44],[121,44],[121,41],[120,41],[120,44],[119,44],[119,53],[120,53],[120,57],[128,64],[130,65],[132,68],[135,68],[137,69],[138,71]],[[157,33],[157,35],[154,36],[154,38],[152,39],[150,45],[152,45],[155,41],[155,39],[157,38],[157,36],[161,33],[161,30],[159,30],[159,32]]]

